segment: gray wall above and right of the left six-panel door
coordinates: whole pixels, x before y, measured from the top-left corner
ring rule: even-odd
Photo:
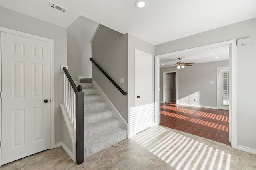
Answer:
[[[0,26],[54,40],[55,143],[62,141],[62,74],[67,64],[67,29],[0,6]]]

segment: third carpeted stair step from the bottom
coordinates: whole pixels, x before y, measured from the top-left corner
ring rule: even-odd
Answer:
[[[84,124],[93,123],[111,117],[112,111],[107,109],[84,113]]]

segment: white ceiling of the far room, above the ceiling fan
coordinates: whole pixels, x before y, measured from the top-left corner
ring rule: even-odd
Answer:
[[[218,57],[215,59],[214,57]],[[175,55],[171,57],[164,57],[160,59],[161,67],[168,67],[168,66],[176,66],[175,63],[179,61],[178,58],[182,58],[181,61],[184,63],[191,63],[194,62],[195,64],[198,63],[208,63],[213,61],[222,61],[229,59],[229,47],[218,47],[214,49],[207,49],[202,51],[197,51],[194,53],[186,53],[182,55]],[[162,65],[164,64],[164,65]],[[191,64],[194,65],[194,64]]]

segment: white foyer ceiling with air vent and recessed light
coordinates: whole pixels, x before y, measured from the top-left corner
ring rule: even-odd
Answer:
[[[67,13],[48,8],[54,2]],[[0,6],[68,27],[82,15],[153,45],[256,17],[256,0],[0,0]]]

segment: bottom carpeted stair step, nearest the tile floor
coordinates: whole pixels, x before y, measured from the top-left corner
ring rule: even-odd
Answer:
[[[85,139],[84,142],[84,156],[90,156],[100,150],[103,150],[115,143],[126,139],[126,130],[121,127],[105,131],[99,135]]]

